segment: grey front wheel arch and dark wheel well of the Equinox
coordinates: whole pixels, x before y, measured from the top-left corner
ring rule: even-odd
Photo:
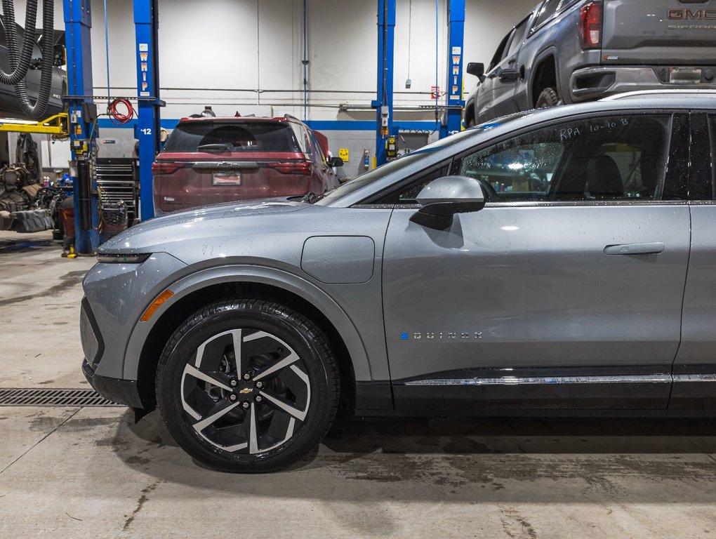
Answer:
[[[155,406],[154,379],[159,357],[173,331],[189,314],[226,297],[261,296],[284,303],[308,316],[328,336],[337,358],[341,407],[354,408],[357,384],[369,382],[371,369],[365,347],[347,314],[328,294],[304,278],[257,266],[223,266],[199,271],[168,286],[173,292],[152,317],[137,322],[125,356],[125,379],[137,380],[146,409]]]

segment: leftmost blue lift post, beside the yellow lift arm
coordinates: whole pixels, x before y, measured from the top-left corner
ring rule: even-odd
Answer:
[[[64,0],[63,8],[67,45],[67,92],[70,96],[91,96],[90,0]],[[87,166],[92,160],[91,148],[97,136],[97,129],[92,130],[92,124],[86,122],[87,118],[82,115],[84,102],[92,102],[92,99],[69,99],[69,140],[72,161],[75,163],[71,171],[74,187],[74,250],[77,253],[90,254],[100,245],[97,181],[93,178],[92,167]]]

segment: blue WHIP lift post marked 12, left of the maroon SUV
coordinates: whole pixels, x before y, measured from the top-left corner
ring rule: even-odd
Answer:
[[[139,120],[135,137],[139,140],[140,216],[154,217],[152,164],[159,151],[159,54],[157,43],[157,0],[134,0],[137,39],[137,96]]]

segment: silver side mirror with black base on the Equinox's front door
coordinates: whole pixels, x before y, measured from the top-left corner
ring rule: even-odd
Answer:
[[[482,185],[467,176],[444,176],[432,180],[422,188],[416,200],[420,210],[410,220],[435,230],[450,228],[455,213],[471,213],[485,207]]]

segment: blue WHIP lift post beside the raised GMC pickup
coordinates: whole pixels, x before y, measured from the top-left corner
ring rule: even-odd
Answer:
[[[465,0],[448,0],[448,109],[440,124],[440,138],[460,131],[463,120],[463,38]]]

